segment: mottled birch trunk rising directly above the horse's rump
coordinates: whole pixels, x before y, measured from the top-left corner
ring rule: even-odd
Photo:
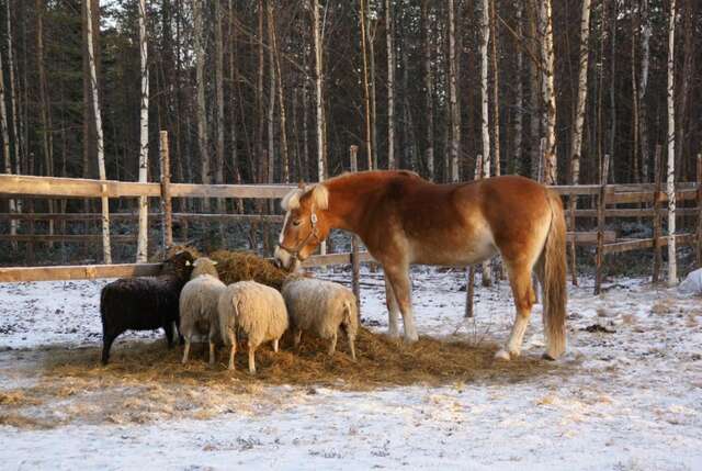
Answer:
[[[554,55],[553,55],[553,20],[551,0],[541,0],[539,4],[541,63],[542,63],[542,93],[544,102],[544,122],[546,124],[546,143],[544,149],[544,183],[556,184],[556,93],[554,88]]]

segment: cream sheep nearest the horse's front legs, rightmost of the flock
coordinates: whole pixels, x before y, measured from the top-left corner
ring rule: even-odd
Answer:
[[[303,330],[329,339],[329,356],[337,348],[339,327],[346,330],[355,361],[354,340],[359,329],[355,296],[341,284],[292,274],[283,282],[283,298],[290,315],[294,346],[299,345]]]

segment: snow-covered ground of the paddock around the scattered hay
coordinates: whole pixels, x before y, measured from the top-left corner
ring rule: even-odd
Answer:
[[[105,282],[0,284],[0,399],[41,380],[46,351],[100,343]],[[365,273],[363,282],[362,317],[384,332],[382,274]],[[414,284],[420,334],[507,338],[513,317],[507,282],[476,289],[475,323],[462,318],[463,273],[417,270]],[[591,280],[580,284],[570,288],[568,354],[552,374],[363,392],[270,386],[203,418],[159,418],[156,411],[144,423],[0,425],[0,463],[2,470],[702,469],[702,300],[645,280],[620,280],[601,296],[591,294]],[[536,305],[522,355],[539,358],[543,341]],[[0,401],[0,419],[10,406]],[[60,417],[71,406],[56,402],[45,413]]]

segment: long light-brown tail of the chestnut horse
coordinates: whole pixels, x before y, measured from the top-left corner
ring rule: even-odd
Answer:
[[[542,253],[541,283],[543,319],[546,332],[546,355],[558,358],[566,349],[566,220],[561,197],[546,190],[551,206],[551,227]]]

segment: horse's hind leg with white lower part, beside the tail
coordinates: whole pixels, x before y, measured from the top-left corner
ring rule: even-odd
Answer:
[[[512,357],[519,357],[521,354],[522,340],[529,326],[529,317],[531,317],[531,309],[535,302],[531,281],[531,267],[526,263],[508,263],[507,268],[517,315],[507,345],[495,355],[495,358],[501,360],[509,360]]]

